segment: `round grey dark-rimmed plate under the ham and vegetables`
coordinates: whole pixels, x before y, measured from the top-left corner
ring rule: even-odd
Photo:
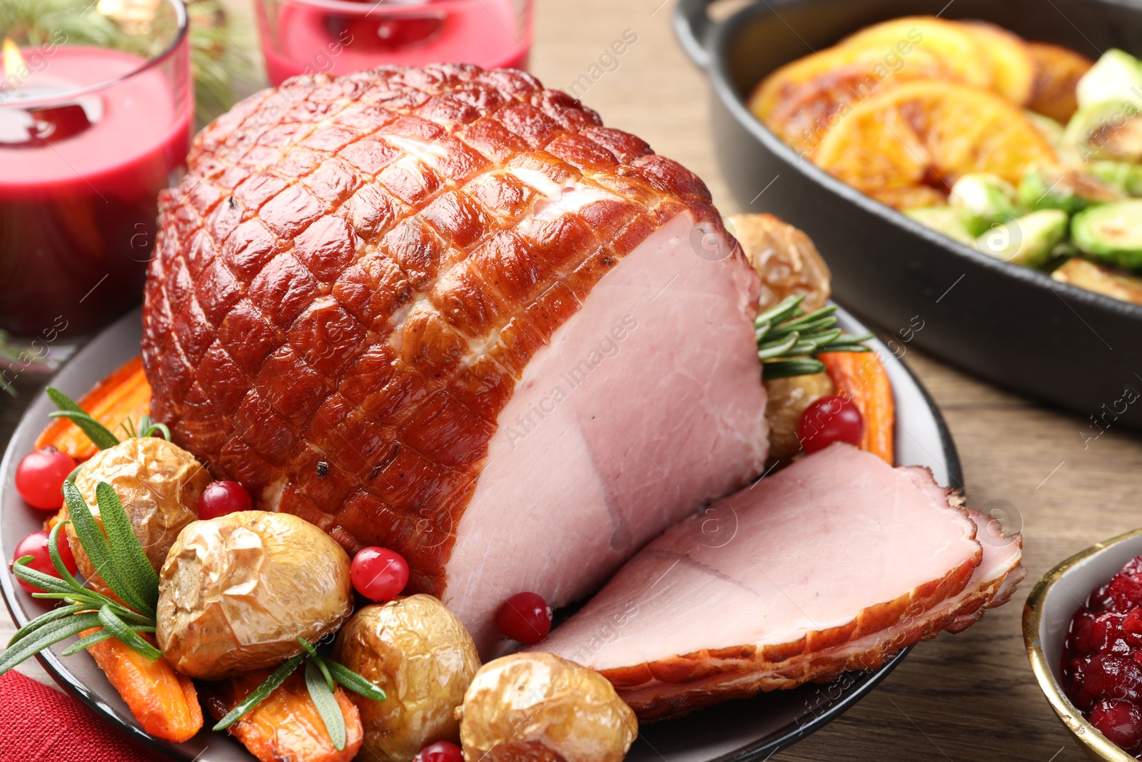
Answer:
[[[850,334],[864,327],[844,311],[838,323]],[[138,353],[140,322],[138,311],[122,318],[81,350],[53,379],[53,386],[72,398],[81,396],[100,378]],[[896,402],[896,457],[900,463],[932,470],[944,486],[960,487],[963,475],[956,448],[939,410],[911,372],[879,342],[892,379]],[[0,463],[0,550],[10,559],[27,534],[41,528],[46,514],[30,508],[14,486],[16,464],[32,450],[39,432],[48,423],[50,401],[38,394],[8,443]],[[45,604],[19,587],[10,573],[0,573],[0,588],[18,625],[46,610]],[[86,655],[62,658],[71,643],[64,641],[39,659],[67,691],[102,714],[136,740],[166,757],[183,762],[249,762],[242,746],[223,733],[203,730],[185,744],[155,739],[139,728],[119,695]],[[733,701],[706,709],[684,720],[646,725],[627,759],[630,762],[747,762],[765,760],[778,749],[796,743],[859,701],[903,658],[903,651],[879,669],[851,672],[823,685],[804,685],[745,701]]]

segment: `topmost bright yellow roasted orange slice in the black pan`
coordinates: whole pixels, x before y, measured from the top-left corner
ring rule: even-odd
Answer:
[[[904,16],[882,24],[867,26],[841,41],[837,47],[858,50],[900,50],[907,45],[911,51],[904,56],[904,67],[916,63],[918,53],[936,58],[951,73],[952,79],[984,89],[994,86],[991,56],[988,48],[970,27],[935,16]]]

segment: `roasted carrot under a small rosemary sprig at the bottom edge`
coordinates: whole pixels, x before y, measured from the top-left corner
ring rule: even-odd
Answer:
[[[207,708],[215,720],[222,720],[239,701],[250,695],[266,677],[270,669],[210,683]],[[249,714],[228,728],[262,762],[349,762],[356,756],[364,738],[361,714],[338,685],[335,696],[345,716],[345,748],[333,747],[325,723],[305,687],[303,669],[296,669]]]

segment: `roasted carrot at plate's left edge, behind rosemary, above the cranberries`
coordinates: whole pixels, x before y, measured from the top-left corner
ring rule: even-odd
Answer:
[[[151,411],[151,385],[143,372],[143,359],[135,356],[99,382],[79,400],[79,407],[118,434],[121,424],[138,424]],[[77,460],[87,460],[98,452],[79,426],[66,418],[56,418],[35,440],[35,449],[55,447]]]

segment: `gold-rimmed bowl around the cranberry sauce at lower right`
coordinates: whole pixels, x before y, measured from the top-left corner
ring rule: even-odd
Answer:
[[[1142,529],[1092,545],[1045,573],[1023,607],[1023,642],[1039,688],[1092,760],[1134,762],[1087,722],[1063,692],[1063,640],[1075,610],[1091,591],[1107,584],[1135,555],[1142,555]]]

